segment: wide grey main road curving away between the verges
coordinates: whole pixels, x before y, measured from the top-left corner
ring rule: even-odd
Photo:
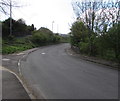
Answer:
[[[69,55],[69,47],[43,47],[21,61],[21,73],[38,98],[117,99],[118,71]]]

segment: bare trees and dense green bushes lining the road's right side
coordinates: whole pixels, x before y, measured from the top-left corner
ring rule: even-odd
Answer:
[[[120,2],[73,2],[71,45],[80,53],[120,62]]]

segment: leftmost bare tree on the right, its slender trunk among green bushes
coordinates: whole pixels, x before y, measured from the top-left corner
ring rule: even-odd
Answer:
[[[93,43],[92,43],[92,36],[94,32],[94,27],[95,27],[95,19],[96,19],[96,13],[100,9],[100,3],[101,2],[96,2],[96,1],[77,1],[73,2],[73,10],[75,14],[77,15],[77,19],[84,22],[84,24],[88,27],[89,29],[89,41],[90,41],[90,54],[92,55],[93,53]]]

